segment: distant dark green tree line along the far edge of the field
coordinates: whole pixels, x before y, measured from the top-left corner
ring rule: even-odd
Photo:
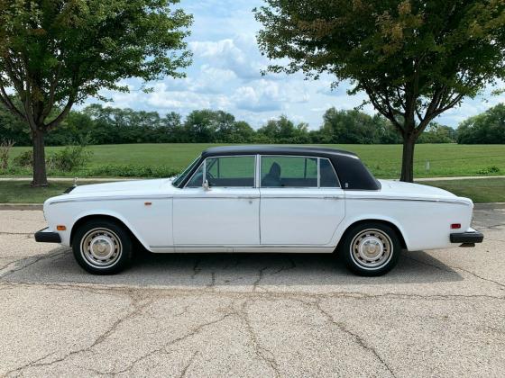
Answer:
[[[0,108],[0,139],[17,146],[32,144],[22,121]],[[58,129],[47,134],[46,144],[68,145],[80,140],[92,144],[123,143],[339,143],[396,144],[401,137],[379,114],[328,109],[321,127],[309,130],[304,122],[287,116],[267,121],[254,130],[245,121],[223,111],[197,110],[183,119],[177,112],[134,111],[92,104],[72,111]],[[432,122],[418,143],[505,143],[505,105],[499,104],[463,121],[457,130]]]

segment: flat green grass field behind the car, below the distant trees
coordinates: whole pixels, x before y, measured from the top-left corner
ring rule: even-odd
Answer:
[[[212,144],[131,144],[91,146],[93,157],[87,168],[104,165],[168,166],[183,169]],[[326,145],[358,154],[374,175],[398,178],[400,145]],[[14,148],[13,157],[28,148]],[[48,152],[58,147],[47,148]],[[427,170],[427,162],[430,169]],[[505,175],[505,145],[419,144],[416,146],[415,177],[478,175],[489,166]],[[69,174],[72,175],[72,174]]]

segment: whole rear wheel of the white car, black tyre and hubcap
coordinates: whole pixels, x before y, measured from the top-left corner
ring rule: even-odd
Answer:
[[[339,249],[354,274],[376,276],[388,273],[398,264],[401,244],[390,226],[367,222],[349,229]]]

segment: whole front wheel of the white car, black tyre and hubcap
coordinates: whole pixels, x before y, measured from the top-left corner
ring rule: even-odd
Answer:
[[[111,220],[89,220],[78,228],[72,241],[78,265],[94,275],[114,275],[130,265],[132,238]]]

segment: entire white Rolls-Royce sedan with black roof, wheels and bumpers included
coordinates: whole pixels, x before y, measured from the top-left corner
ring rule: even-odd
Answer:
[[[177,178],[72,187],[44,203],[41,242],[72,247],[99,275],[138,242],[153,253],[339,252],[383,275],[402,249],[474,246],[473,202],[431,186],[377,180],[333,148],[208,148]]]

